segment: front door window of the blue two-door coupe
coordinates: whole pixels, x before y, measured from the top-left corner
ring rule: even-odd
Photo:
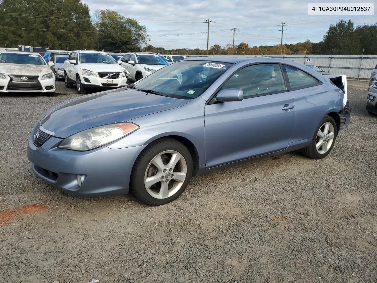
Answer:
[[[285,91],[282,71],[278,64],[259,64],[239,70],[222,89],[240,88],[244,97]]]

